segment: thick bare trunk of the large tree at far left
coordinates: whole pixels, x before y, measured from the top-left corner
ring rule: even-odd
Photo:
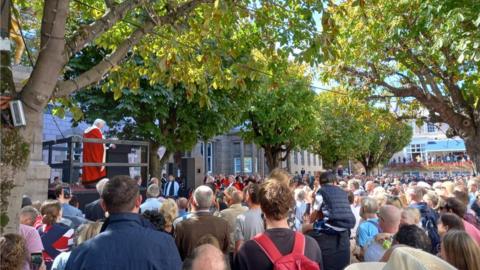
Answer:
[[[63,49],[68,4],[68,0],[45,1],[40,42],[42,49],[30,79],[21,92],[27,126],[20,130],[20,136],[30,149],[27,164],[30,160],[42,159],[43,110],[53,93],[60,71],[66,63]],[[21,156],[22,149],[17,150],[18,155]],[[6,166],[5,169],[13,169],[12,177],[15,179],[14,188],[8,198],[7,213],[10,222],[6,227],[6,232],[13,232],[18,228],[18,213],[28,168],[15,170],[13,167]],[[47,186],[44,188],[47,189]]]

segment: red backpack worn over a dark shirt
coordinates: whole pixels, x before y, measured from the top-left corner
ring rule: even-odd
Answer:
[[[301,233],[295,232],[292,253],[285,256],[278,251],[275,244],[265,233],[257,235],[254,240],[273,263],[273,270],[320,270],[317,262],[304,255],[305,236]]]

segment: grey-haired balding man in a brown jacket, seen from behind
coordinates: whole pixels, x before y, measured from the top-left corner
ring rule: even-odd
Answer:
[[[214,199],[210,187],[199,186],[193,193],[193,215],[175,227],[175,242],[182,260],[190,256],[199,244],[204,244],[201,240],[207,235],[215,237],[220,249],[227,253],[230,228],[226,220],[213,216],[209,211]]]

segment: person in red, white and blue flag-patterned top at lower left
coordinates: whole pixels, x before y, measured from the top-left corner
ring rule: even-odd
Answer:
[[[42,204],[43,224],[38,229],[43,244],[43,261],[47,270],[52,267],[53,260],[61,253],[69,251],[73,246],[73,229],[59,223],[62,217],[62,206],[56,200],[47,200]]]

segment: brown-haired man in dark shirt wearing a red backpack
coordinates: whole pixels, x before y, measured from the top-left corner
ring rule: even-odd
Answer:
[[[287,218],[294,198],[288,185],[268,179],[260,188],[259,200],[267,229],[243,244],[235,256],[234,269],[322,269],[317,242],[289,229]]]

